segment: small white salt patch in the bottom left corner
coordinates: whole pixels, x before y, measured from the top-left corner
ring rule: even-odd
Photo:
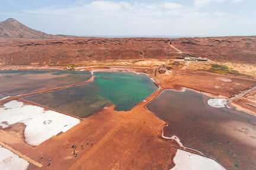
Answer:
[[[8,149],[0,146],[0,169],[2,170],[25,170],[29,163],[15,155]]]

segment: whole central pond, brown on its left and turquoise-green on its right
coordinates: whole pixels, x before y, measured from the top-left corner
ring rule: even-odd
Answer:
[[[25,97],[50,109],[87,117],[109,104],[127,111],[146,99],[157,87],[143,74],[96,72],[92,83]]]

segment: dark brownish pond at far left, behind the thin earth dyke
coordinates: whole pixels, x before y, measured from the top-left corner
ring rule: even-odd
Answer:
[[[91,77],[89,71],[62,70],[6,70],[0,71],[0,75],[0,99],[50,87],[81,83]]]

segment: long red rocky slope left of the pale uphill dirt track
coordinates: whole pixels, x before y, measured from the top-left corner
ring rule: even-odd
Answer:
[[[9,39],[8,39],[9,40]],[[177,56],[168,39],[75,38],[0,42],[0,64],[77,64],[87,61],[167,58]]]

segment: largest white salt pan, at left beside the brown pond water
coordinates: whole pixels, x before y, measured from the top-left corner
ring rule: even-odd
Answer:
[[[40,145],[60,132],[66,132],[77,125],[80,120],[42,107],[24,105],[12,100],[0,107],[0,126],[7,128],[14,123],[24,123],[25,141],[33,146]]]

